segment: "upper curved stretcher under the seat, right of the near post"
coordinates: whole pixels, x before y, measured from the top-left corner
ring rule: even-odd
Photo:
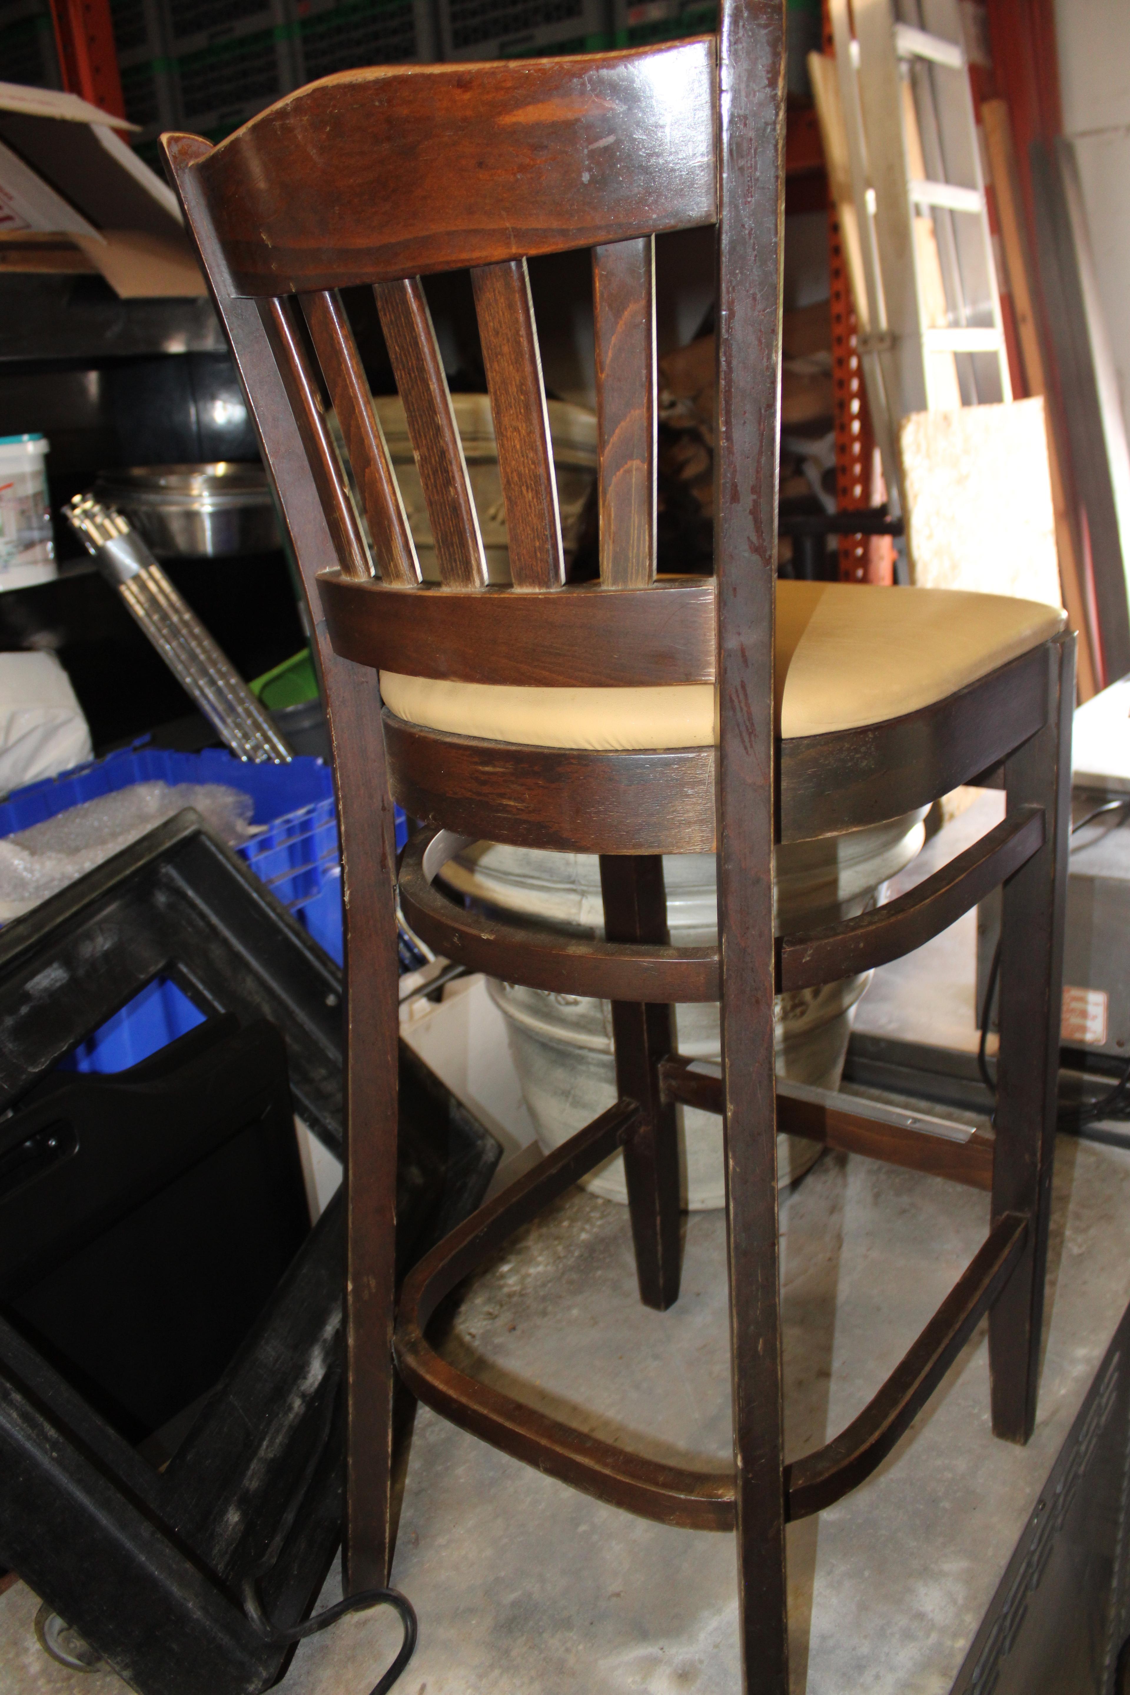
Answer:
[[[874,912],[778,942],[778,990],[835,983],[901,959],[956,924],[1044,846],[1040,807],[1018,807],[908,893]]]

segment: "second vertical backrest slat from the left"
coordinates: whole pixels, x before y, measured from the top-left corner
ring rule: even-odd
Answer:
[[[310,339],[322,366],[346,437],[349,463],[361,495],[383,583],[420,581],[405,503],[393,475],[352,327],[337,290],[302,295]]]

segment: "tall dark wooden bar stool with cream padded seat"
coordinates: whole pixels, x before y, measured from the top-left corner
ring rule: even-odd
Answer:
[[[395,1359],[447,1419],[664,1524],[735,1531],[744,1687],[788,1688],[784,1526],[866,1478],[989,1310],[993,1427],[1033,1422],[1055,1129],[1072,642],[1047,607],[776,586],[783,5],[717,37],[584,58],[346,71],[212,147],[164,149],[300,561],[334,739],[347,912],[346,1581],[390,1561]],[[718,229],[715,576],[656,580],[654,234]],[[600,583],[564,585],[527,256],[593,249]],[[486,586],[425,290],[471,268],[513,586]],[[442,581],[415,547],[337,290],[373,285]],[[334,407],[347,480],[327,425]],[[774,614],[776,607],[776,614]],[[776,629],[774,629],[776,624]],[[776,683],[774,683],[776,678]],[[774,939],[773,846],[1001,770],[1003,824],[876,912]],[[427,824],[396,876],[393,797]],[[603,941],[463,912],[466,841],[600,854]],[[717,948],[673,948],[664,853],[717,848]],[[1005,885],[994,1139],[883,1156],[991,1188],[984,1246],[818,1453],[781,1444],[774,990],[881,964]],[[618,1102],[412,1273],[395,1317],[396,888],[440,953],[613,1002]],[[722,1002],[722,1078],[671,1005]],[[657,1464],[523,1407],[429,1342],[442,1297],[623,1149],[644,1302],[679,1288],[678,1102],[723,1115],[734,1473]],[[827,1134],[817,1114],[783,1127]],[[837,1114],[840,1146],[867,1125]],[[852,1137],[856,1137],[852,1141]]]

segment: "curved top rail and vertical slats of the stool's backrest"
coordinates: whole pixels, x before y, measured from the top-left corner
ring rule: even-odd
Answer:
[[[713,37],[562,59],[346,71],[278,102],[213,149],[186,136],[164,146],[213,286],[259,302],[347,583],[415,588],[420,564],[339,288],[374,288],[440,581],[474,592],[486,586],[486,556],[420,280],[471,268],[512,581],[552,590],[564,583],[564,551],[527,256],[591,246],[600,575],[608,588],[654,581],[654,236],[718,215]],[[354,622],[354,603],[339,597],[339,625]],[[634,610],[625,603],[620,615],[630,625]],[[408,620],[405,670],[413,649],[432,653],[440,639],[430,622],[413,632]],[[476,676],[481,666],[479,646]],[[457,654],[439,675],[461,675]],[[698,654],[688,680],[701,675]]]

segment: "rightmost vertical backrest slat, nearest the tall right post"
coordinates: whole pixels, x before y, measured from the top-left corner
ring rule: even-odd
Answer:
[[[656,239],[593,247],[600,580],[656,578]]]

